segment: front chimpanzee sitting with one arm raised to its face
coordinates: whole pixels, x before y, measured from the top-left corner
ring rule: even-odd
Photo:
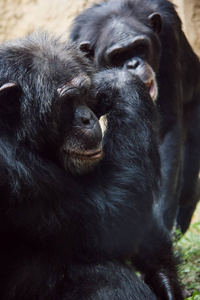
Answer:
[[[96,74],[46,34],[3,44],[0,66],[1,299],[156,299],[127,259],[157,299],[182,299],[152,214],[160,158],[144,83]]]

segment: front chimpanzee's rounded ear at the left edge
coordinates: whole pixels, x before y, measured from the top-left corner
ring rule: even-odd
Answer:
[[[14,82],[8,82],[0,87],[0,112],[14,113],[19,108],[21,88]]]

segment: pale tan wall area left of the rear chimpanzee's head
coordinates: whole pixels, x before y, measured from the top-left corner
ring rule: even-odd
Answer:
[[[37,28],[66,32],[73,18],[95,0],[0,0],[0,41]]]

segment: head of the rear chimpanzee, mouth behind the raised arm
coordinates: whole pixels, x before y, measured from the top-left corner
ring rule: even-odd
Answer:
[[[94,5],[75,19],[71,38],[98,67],[121,67],[137,74],[155,100],[161,16],[145,1],[138,1],[114,0]]]

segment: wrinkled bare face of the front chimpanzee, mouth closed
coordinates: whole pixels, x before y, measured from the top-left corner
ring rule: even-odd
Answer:
[[[63,139],[59,156],[66,170],[73,174],[84,174],[92,170],[102,158],[102,132],[99,121],[92,110],[86,105],[84,93],[91,88],[89,77],[78,76],[71,82],[58,88],[59,98],[64,101],[60,107],[61,129]],[[71,102],[72,117],[70,124],[65,120],[64,113]],[[66,124],[66,126],[63,126]],[[67,130],[64,130],[67,128]]]

